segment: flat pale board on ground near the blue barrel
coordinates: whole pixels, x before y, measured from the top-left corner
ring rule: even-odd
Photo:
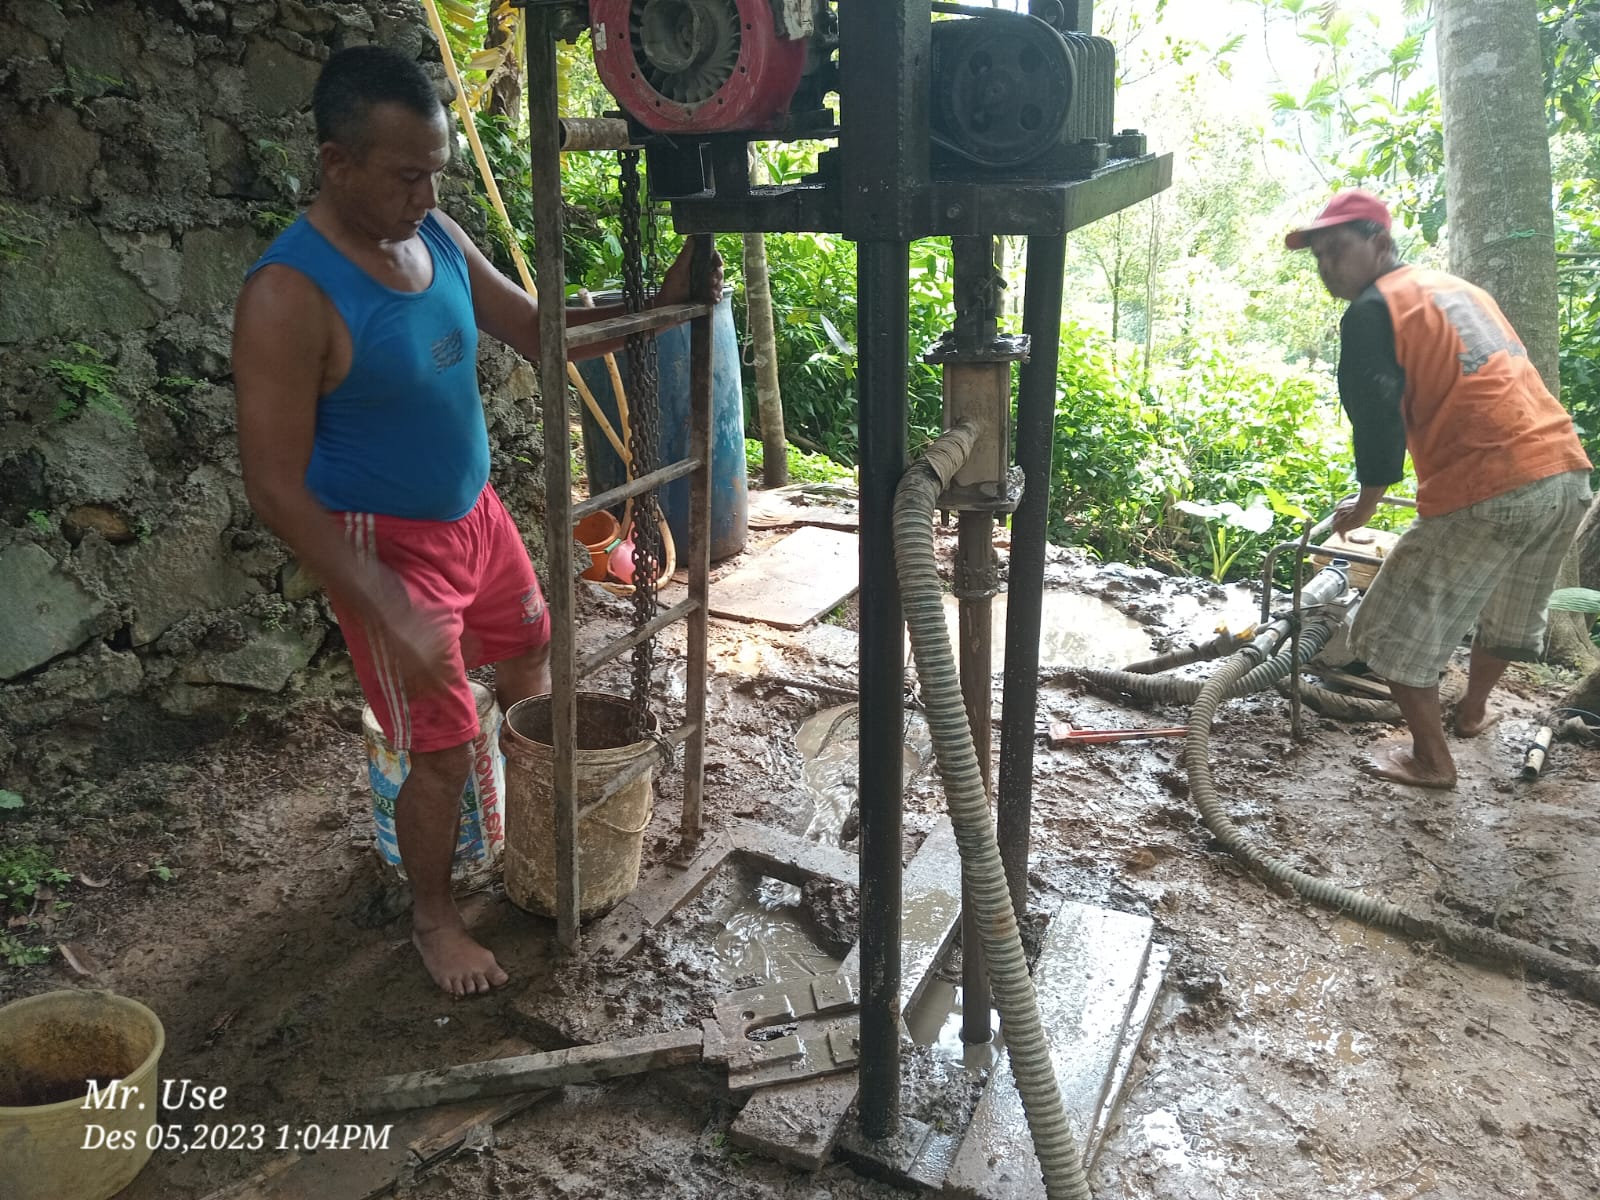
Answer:
[[[800,629],[854,594],[858,579],[856,534],[808,525],[714,582],[710,611]]]

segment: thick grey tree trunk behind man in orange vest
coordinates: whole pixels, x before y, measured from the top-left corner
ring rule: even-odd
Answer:
[[[1560,395],[1560,310],[1550,139],[1538,5],[1440,0],[1438,94],[1445,115],[1450,269],[1486,290]],[[1578,581],[1570,558],[1562,584]],[[1550,614],[1550,658],[1600,662],[1584,619]]]

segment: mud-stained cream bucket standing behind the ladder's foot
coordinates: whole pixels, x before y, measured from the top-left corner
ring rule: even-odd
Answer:
[[[587,808],[624,766],[658,754],[654,741],[629,742],[629,702],[578,693],[578,808]],[[501,725],[506,752],[506,894],[518,907],[555,915],[555,803],[550,779],[550,698],[510,706]],[[638,886],[645,826],[654,805],[654,770],[621,787],[578,826],[578,909],[597,917]]]

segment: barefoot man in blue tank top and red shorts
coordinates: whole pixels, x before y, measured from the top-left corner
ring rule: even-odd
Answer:
[[[411,939],[446,992],[485,992],[506,971],[450,891],[478,734],[467,670],[494,664],[502,709],[549,691],[550,672],[544,598],[488,483],[477,342],[482,330],[538,362],[539,314],[437,208],[453,130],[413,59],[339,51],[312,107],[322,190],[251,269],[234,317],[240,464],[262,522],[328,589],[362,691],[410,755],[395,827]],[[658,302],[686,296],[680,256]]]

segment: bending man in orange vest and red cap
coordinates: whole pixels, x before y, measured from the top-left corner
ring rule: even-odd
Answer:
[[[1339,325],[1339,400],[1350,418],[1360,494],[1336,533],[1358,530],[1416,467],[1418,520],[1384,560],[1350,626],[1350,648],[1389,682],[1411,749],[1373,755],[1384,779],[1454,787],[1438,677],[1469,629],[1456,734],[1491,723],[1488,696],[1510,661],[1544,651],[1546,605],[1589,507],[1590,464],[1494,299],[1442,270],[1405,266],[1389,208],[1339,192],[1285,238],[1309,248],[1323,285],[1350,307]]]

